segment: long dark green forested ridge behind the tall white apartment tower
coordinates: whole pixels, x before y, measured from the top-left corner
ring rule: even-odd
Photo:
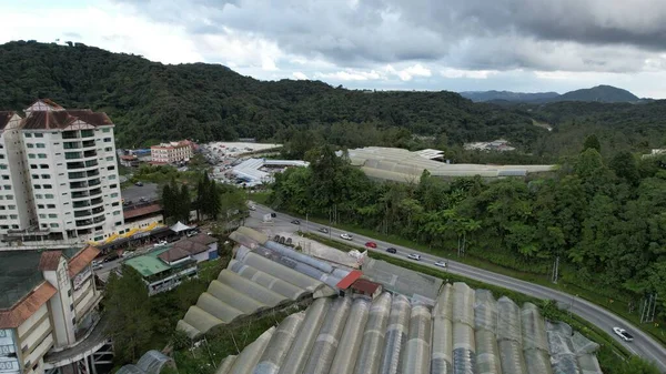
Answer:
[[[121,145],[238,137],[284,140],[294,129],[339,122],[445,133],[452,144],[507,138],[532,143],[545,130],[529,118],[475,104],[453,92],[371,92],[323,82],[264,82],[219,64],[164,65],[83,44],[34,41],[0,46],[0,108],[36,98],[109,113]],[[404,130],[403,130],[404,131]]]

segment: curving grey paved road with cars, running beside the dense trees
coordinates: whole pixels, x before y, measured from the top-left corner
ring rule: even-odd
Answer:
[[[263,205],[256,205],[256,211],[252,211],[251,215],[255,219],[260,219],[261,216],[263,216],[263,214],[266,214],[270,212],[272,212],[272,211],[269,208],[263,206]],[[290,216],[287,214],[283,214],[283,213],[276,213],[276,218],[273,219],[273,221],[275,222],[275,225],[280,225],[281,228],[289,226],[289,223],[292,220],[294,220],[293,216]],[[517,291],[517,292],[521,292],[521,293],[524,293],[526,295],[531,295],[534,297],[554,300],[561,305],[567,305],[571,309],[572,313],[577,314],[582,319],[593,323],[594,325],[602,328],[603,331],[608,332],[608,334],[610,336],[613,336],[613,338],[615,338],[620,344],[623,344],[629,352],[633,352],[634,354],[637,354],[648,361],[655,362],[657,364],[657,366],[659,367],[659,370],[662,372],[666,373],[666,348],[663,345],[657,343],[657,341],[655,341],[653,337],[650,337],[646,333],[638,330],[635,325],[633,325],[628,321],[625,321],[624,319],[615,315],[614,313],[612,313],[601,306],[597,306],[588,301],[576,297],[575,295],[571,295],[571,294],[567,294],[567,293],[564,293],[561,291],[552,290],[552,289],[548,289],[548,287],[545,287],[542,285],[519,281],[519,280],[516,280],[511,276],[493,273],[493,272],[482,270],[478,267],[470,266],[470,265],[466,265],[466,264],[463,264],[460,262],[451,261],[448,259],[436,257],[436,256],[433,256],[433,255],[430,255],[426,253],[422,253],[422,252],[418,252],[418,251],[415,251],[415,250],[412,250],[408,247],[391,244],[391,243],[375,240],[375,239],[372,239],[369,236],[363,236],[363,235],[357,235],[357,234],[351,233],[353,235],[353,240],[345,241],[340,237],[340,234],[344,233],[344,231],[341,231],[341,230],[337,230],[334,228],[329,228],[329,226],[321,225],[321,224],[316,224],[316,223],[312,223],[312,222],[305,222],[303,220],[301,220],[300,228],[294,224],[292,224],[292,228],[294,231],[300,229],[303,232],[315,233],[319,235],[331,237],[335,241],[344,242],[347,244],[351,243],[351,244],[359,245],[359,246],[364,246],[366,242],[373,241],[377,244],[377,249],[376,250],[371,249],[371,251],[379,251],[379,252],[386,253],[385,251],[387,247],[394,247],[397,251],[395,256],[402,257],[402,259],[405,259],[406,255],[410,253],[417,253],[417,254],[421,254],[421,257],[422,257],[420,263],[423,265],[432,266],[432,267],[436,267],[434,265],[435,262],[445,260],[448,264],[447,271],[453,274],[467,276],[467,277],[471,277],[471,279],[474,279],[474,280],[477,280],[481,282],[485,282],[488,284],[494,284],[494,285],[497,285],[501,287],[505,287],[507,290],[514,290],[514,291]],[[323,234],[323,233],[319,232],[317,230],[320,230],[322,228],[330,229],[330,233]],[[386,254],[389,254],[389,253],[386,253]],[[634,335],[634,337],[635,337],[634,342],[626,343],[626,342],[622,341],[617,335],[615,335],[612,332],[612,328],[614,326],[622,326],[622,327],[627,328]]]

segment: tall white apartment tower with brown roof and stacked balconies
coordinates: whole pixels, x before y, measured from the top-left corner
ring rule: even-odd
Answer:
[[[24,112],[0,112],[2,240],[88,240],[122,226],[109,117],[48,99]]]

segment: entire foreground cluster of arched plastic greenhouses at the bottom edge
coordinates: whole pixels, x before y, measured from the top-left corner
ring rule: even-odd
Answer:
[[[433,307],[391,292],[317,299],[216,374],[598,374],[597,348],[533,304],[454,283]]]

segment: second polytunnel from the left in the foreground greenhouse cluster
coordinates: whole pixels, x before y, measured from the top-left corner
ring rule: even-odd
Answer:
[[[289,315],[278,326],[269,345],[264,350],[253,374],[278,374],[284,362],[284,357],[291,347],[301,324],[305,319],[305,312],[299,312]]]

